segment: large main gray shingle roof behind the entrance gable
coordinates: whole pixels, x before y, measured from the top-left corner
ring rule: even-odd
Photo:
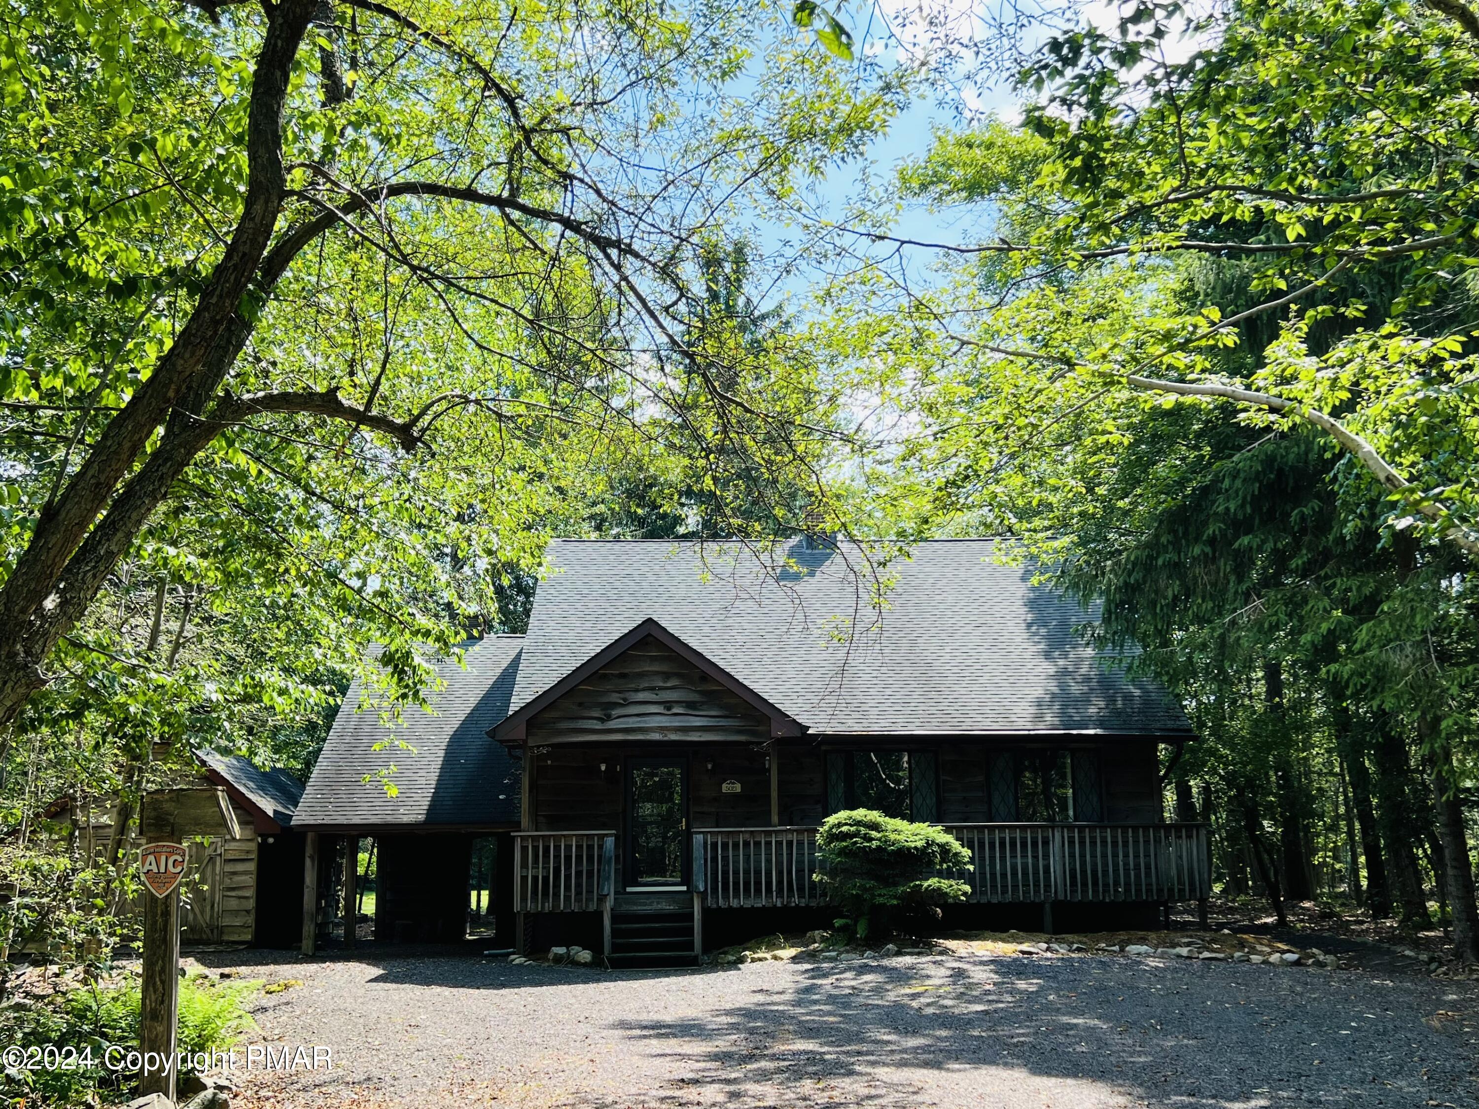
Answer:
[[[768,574],[734,544],[552,543],[510,708],[652,618],[813,735],[1191,730],[1158,683],[1075,634],[1083,608],[995,562],[991,540],[916,546],[886,568],[877,621],[855,549],[785,554],[797,566]]]

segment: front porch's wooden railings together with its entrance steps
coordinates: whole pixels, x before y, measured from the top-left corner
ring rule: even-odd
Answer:
[[[948,872],[970,905],[1055,903],[1168,906],[1211,893],[1204,824],[947,824],[972,869]],[[815,827],[704,828],[686,834],[686,881],[618,886],[615,830],[513,834],[513,908],[521,949],[538,914],[599,914],[609,958],[698,957],[705,909],[803,909],[827,903]],[[643,917],[642,914],[652,914]],[[676,920],[682,914],[683,921]],[[688,915],[691,914],[691,923]],[[646,932],[642,932],[646,929]],[[645,948],[640,942],[651,940]],[[664,943],[666,946],[655,946]],[[691,945],[691,946],[680,946]]]

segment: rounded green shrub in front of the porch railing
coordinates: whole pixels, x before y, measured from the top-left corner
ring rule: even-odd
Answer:
[[[969,871],[970,852],[944,828],[911,824],[871,809],[828,816],[816,832],[816,853],[834,905],[858,939],[879,932],[898,906],[936,906],[964,901],[970,887],[936,871]]]

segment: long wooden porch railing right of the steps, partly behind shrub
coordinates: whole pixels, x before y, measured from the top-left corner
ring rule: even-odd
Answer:
[[[973,903],[1197,901],[1211,893],[1202,824],[951,824]],[[707,908],[822,905],[815,828],[713,828],[692,837]]]

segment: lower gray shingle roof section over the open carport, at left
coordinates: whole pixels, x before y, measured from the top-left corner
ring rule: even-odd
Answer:
[[[522,636],[493,636],[467,648],[467,668],[438,665],[444,689],[432,695],[435,716],[408,707],[399,723],[359,705],[361,685],[345,693],[314,776],[299,803],[296,828],[392,825],[512,825],[519,819],[519,767],[488,729],[509,711]],[[390,742],[402,739],[407,751]],[[387,797],[376,775],[395,766]],[[370,781],[365,782],[365,775]]]

